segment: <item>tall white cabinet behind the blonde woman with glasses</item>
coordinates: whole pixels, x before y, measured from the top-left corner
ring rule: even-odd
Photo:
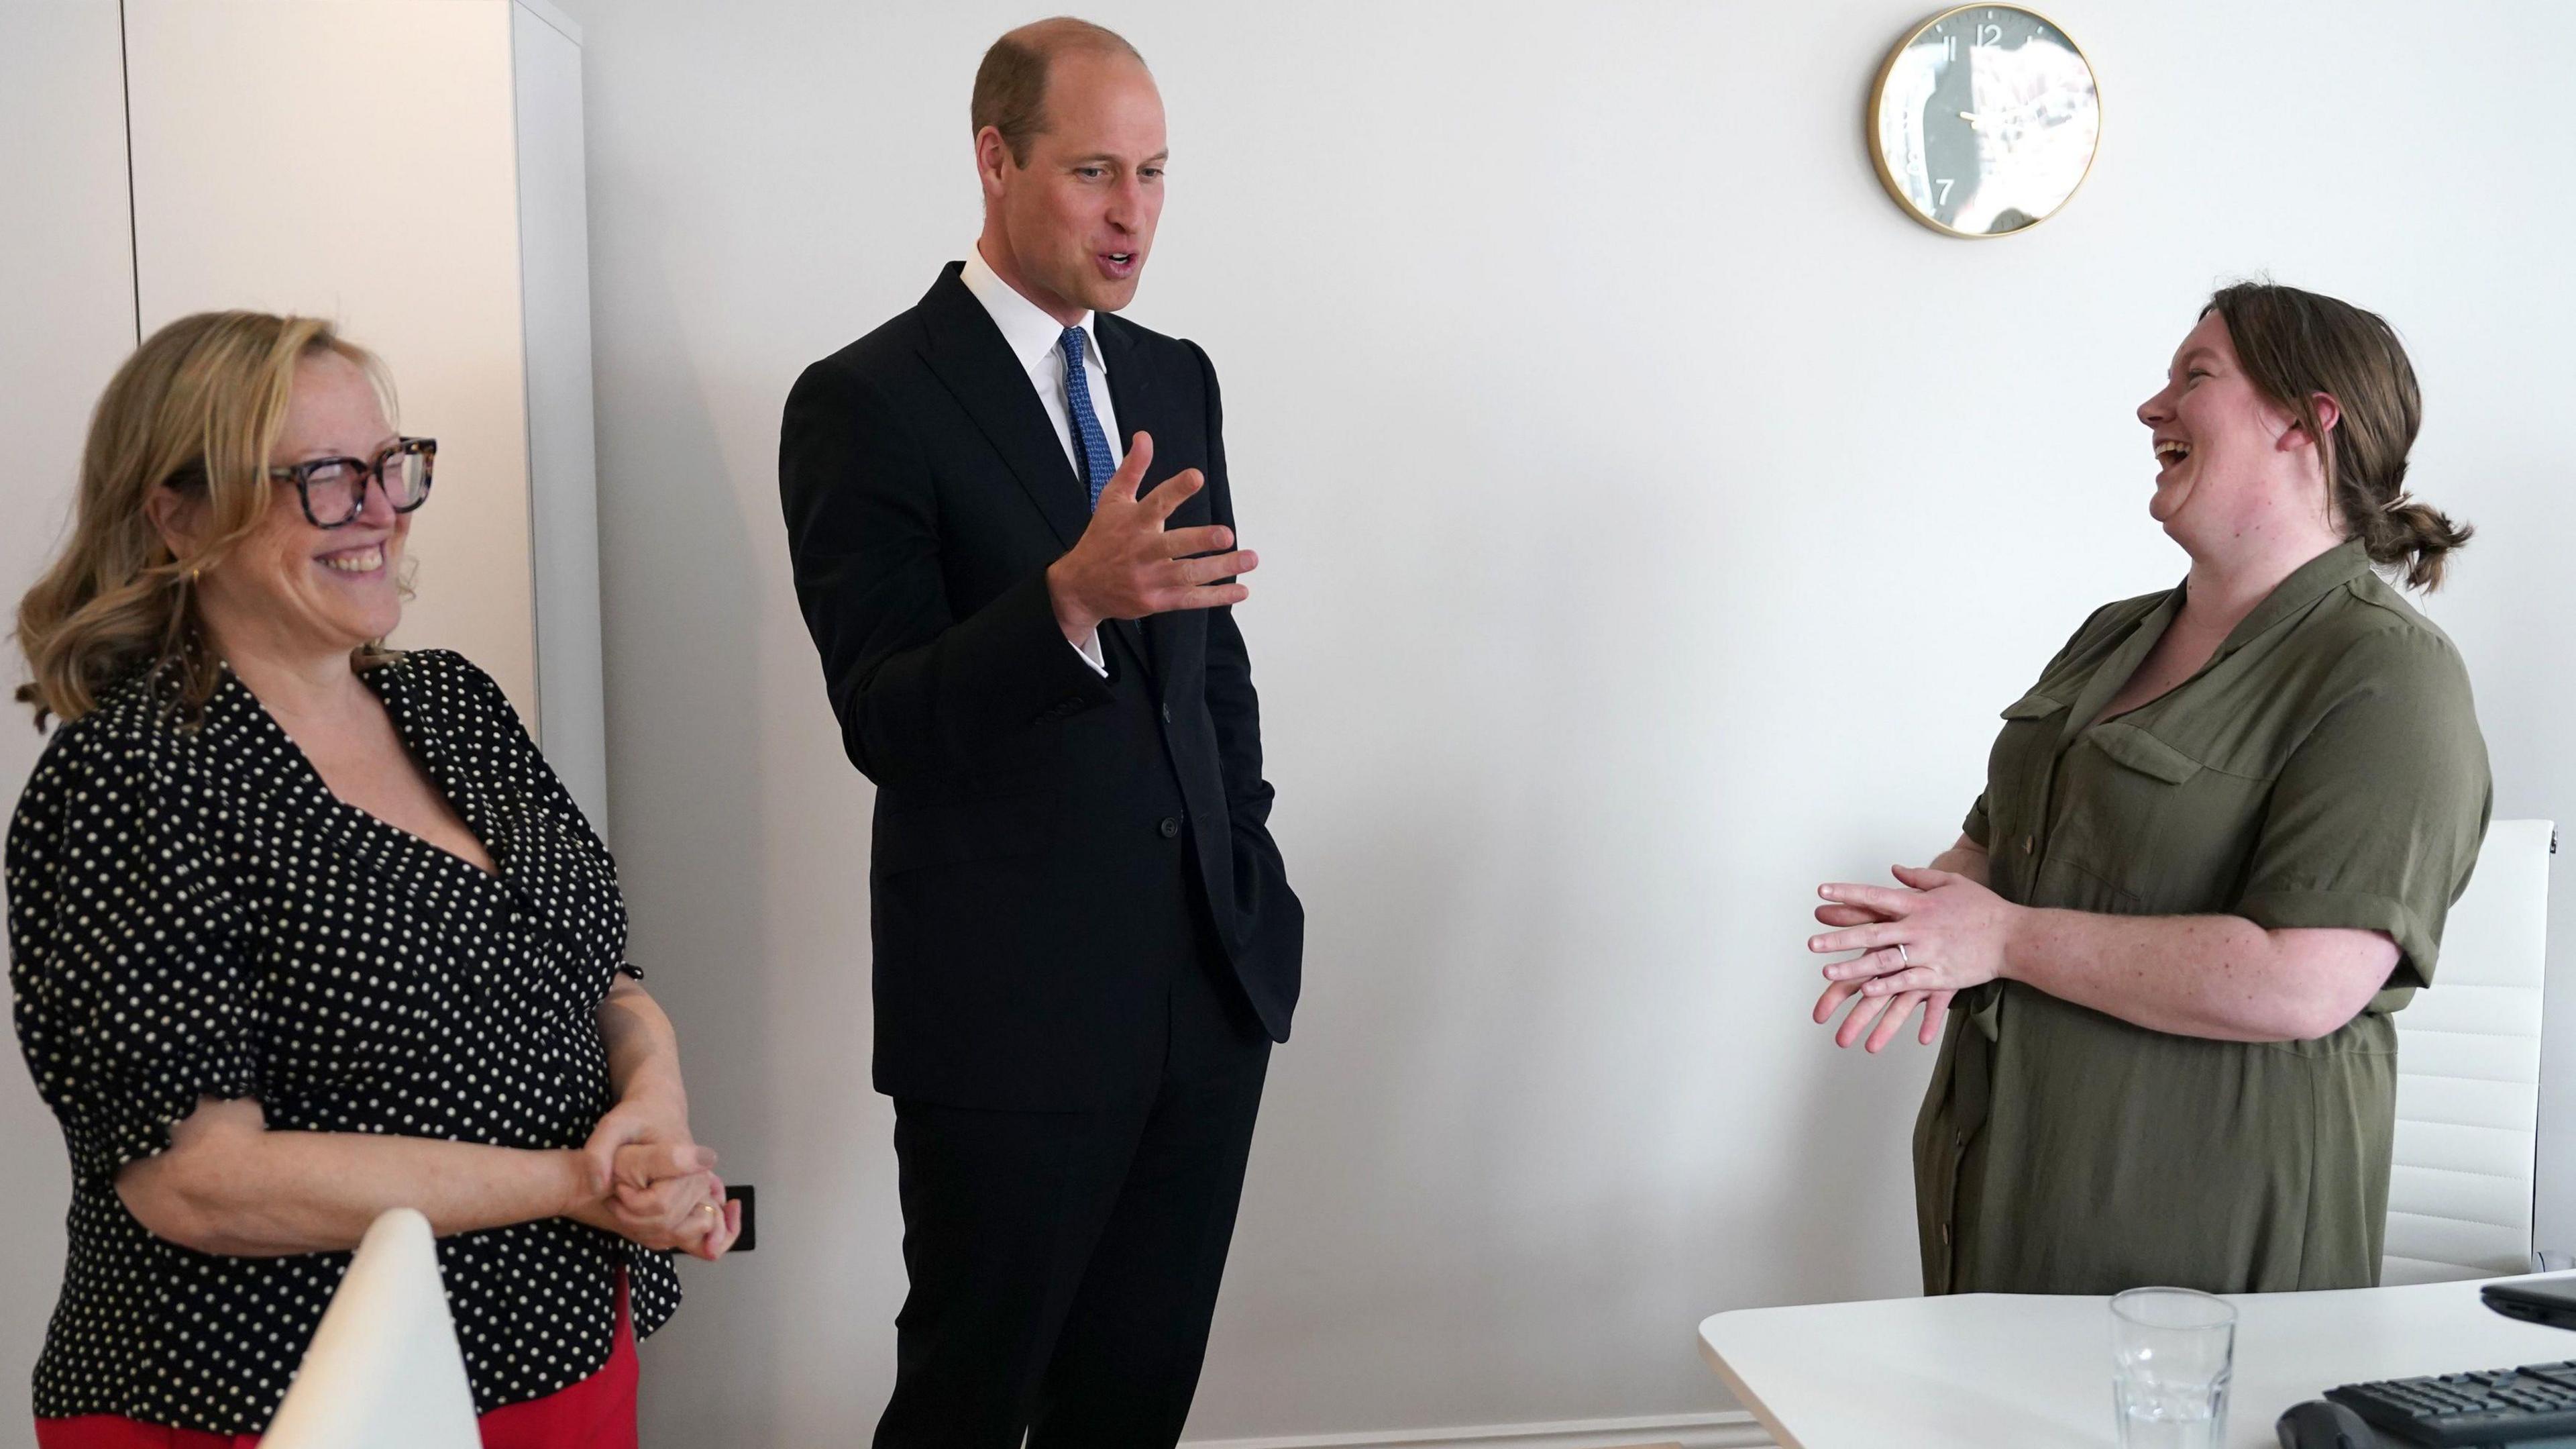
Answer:
[[[438,438],[394,642],[489,670],[605,833],[580,31],[531,0],[126,0],[121,15],[0,0],[0,54],[64,31],[57,49],[77,54],[36,67],[41,90],[85,77],[90,101],[64,126],[70,101],[21,95],[26,62],[8,62],[13,111],[39,111],[10,116],[8,175],[13,199],[36,175],[39,204],[33,237],[13,222],[0,245],[118,271],[121,348],[185,312],[255,307],[332,317],[379,351],[397,425]],[[90,206],[46,206],[57,188]],[[46,369],[62,327],[10,325],[0,369]],[[28,405],[8,405],[13,518],[70,495],[103,382],[64,376],[23,436]],[[13,536],[0,585],[23,588],[28,552]]]

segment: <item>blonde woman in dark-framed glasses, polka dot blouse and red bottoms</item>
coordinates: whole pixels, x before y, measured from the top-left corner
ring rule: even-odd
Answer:
[[[183,317],[108,384],[18,608],[18,1042],[72,1155],[41,1449],[255,1444],[392,1207],[487,1446],[634,1444],[672,1250],[739,1232],[616,866],[500,688],[384,645],[438,446],[327,322]]]

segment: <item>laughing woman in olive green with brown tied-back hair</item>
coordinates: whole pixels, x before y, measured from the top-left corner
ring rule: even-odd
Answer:
[[[1927,1292],[2367,1287],[2396,1029],[2486,835],[2486,743],[2434,588],[2468,539],[2403,490],[2391,327],[2231,286],[2138,407],[2182,588],[2092,614],[2004,709],[1960,841],[1826,884],[1816,1021],[1942,1042],[1914,1127]]]

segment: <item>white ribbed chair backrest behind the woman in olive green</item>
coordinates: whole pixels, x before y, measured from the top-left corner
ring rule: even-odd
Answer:
[[[2496,820],[2442,928],[2434,987],[2398,1024],[2383,1284],[2522,1274],[2540,1132],[2548,820]]]

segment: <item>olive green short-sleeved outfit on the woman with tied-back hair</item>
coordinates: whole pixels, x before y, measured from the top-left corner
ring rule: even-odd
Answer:
[[[2398,967],[2313,1042],[1960,993],[1914,1124],[1924,1292],[2349,1289],[2380,1276],[2396,1026],[2486,835],[2452,642],[2318,554],[2174,691],[2094,722],[2182,590],[2094,611],[2004,709],[1968,835],[2020,905],[2385,931]]]

